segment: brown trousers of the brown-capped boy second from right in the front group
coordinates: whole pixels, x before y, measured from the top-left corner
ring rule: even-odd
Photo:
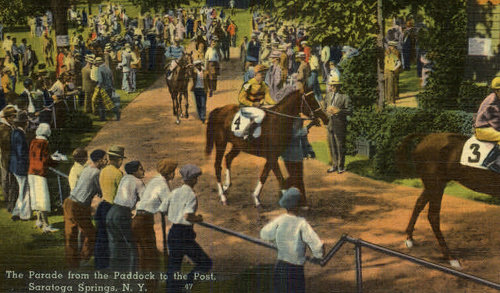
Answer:
[[[132,235],[137,247],[138,269],[140,271],[155,272],[160,267],[154,222],[154,214],[137,214],[132,219]],[[156,292],[158,282],[147,280],[146,287],[148,291]]]

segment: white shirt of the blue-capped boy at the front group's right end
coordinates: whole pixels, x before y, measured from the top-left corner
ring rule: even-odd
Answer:
[[[167,212],[168,220],[173,224],[193,225],[184,218],[185,214],[195,213],[198,199],[193,189],[184,184],[172,191],[172,194],[161,205],[160,210]]]

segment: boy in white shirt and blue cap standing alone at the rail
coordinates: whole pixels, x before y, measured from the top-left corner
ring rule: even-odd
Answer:
[[[297,216],[300,191],[292,187],[285,191],[279,204],[287,213],[268,223],[260,231],[264,240],[278,246],[278,260],[274,268],[274,292],[305,292],[304,263],[306,245],[315,258],[322,258],[323,243],[302,217]]]

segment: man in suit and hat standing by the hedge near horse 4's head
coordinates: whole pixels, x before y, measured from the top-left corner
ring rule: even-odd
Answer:
[[[347,132],[347,116],[352,113],[351,101],[345,94],[339,92],[341,82],[332,78],[328,82],[329,92],[323,101],[323,109],[328,114],[328,150],[331,167],[328,173],[345,171],[345,138]]]

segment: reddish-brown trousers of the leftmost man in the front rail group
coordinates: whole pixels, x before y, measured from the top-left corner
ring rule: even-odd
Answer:
[[[90,218],[90,206],[84,206],[66,198],[63,208],[66,263],[69,267],[78,267],[80,260],[89,260],[94,253],[96,229]],[[80,252],[78,251],[78,229],[83,239]]]

